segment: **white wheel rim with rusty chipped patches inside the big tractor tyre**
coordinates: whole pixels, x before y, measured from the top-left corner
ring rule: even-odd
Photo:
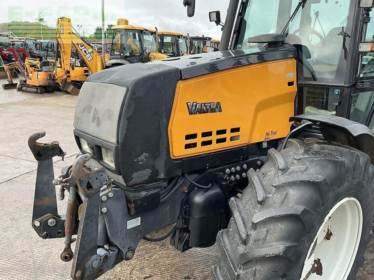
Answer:
[[[346,280],[362,233],[362,208],[355,197],[338,202],[309,248],[300,280]]]

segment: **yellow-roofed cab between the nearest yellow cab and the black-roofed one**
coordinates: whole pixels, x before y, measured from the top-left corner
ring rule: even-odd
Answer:
[[[189,55],[189,37],[171,31],[159,31],[160,52],[169,57]]]

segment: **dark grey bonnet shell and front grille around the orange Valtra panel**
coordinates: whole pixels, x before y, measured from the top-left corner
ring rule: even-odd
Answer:
[[[296,57],[292,47],[204,53],[129,64],[92,74],[80,90],[74,134],[87,141],[96,161],[128,186],[167,180],[186,172],[171,158],[168,126],[177,83],[213,72]],[[102,156],[114,155],[114,167]],[[123,182],[122,182],[123,183]]]

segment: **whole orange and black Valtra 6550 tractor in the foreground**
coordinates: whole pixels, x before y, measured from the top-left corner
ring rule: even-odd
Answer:
[[[91,75],[74,164],[53,180],[65,153],[29,138],[34,230],[65,238],[75,280],[168,236],[182,252],[217,240],[217,280],[355,279],[374,209],[373,6],[231,0],[220,52]]]

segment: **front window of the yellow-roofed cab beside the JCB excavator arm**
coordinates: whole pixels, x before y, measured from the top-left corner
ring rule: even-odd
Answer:
[[[132,63],[141,62],[140,32],[135,29],[114,30],[110,56],[118,56]]]

